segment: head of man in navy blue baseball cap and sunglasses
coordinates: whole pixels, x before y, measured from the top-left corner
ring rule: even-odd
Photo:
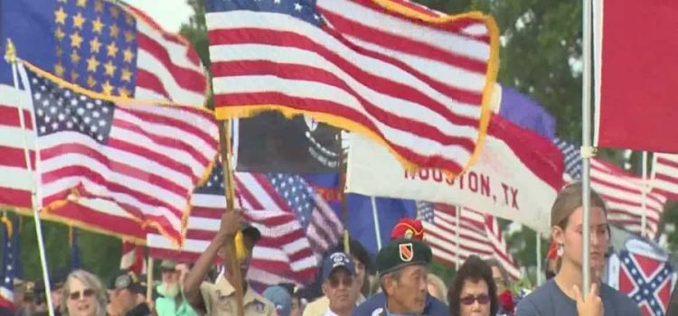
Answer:
[[[351,256],[335,252],[323,262],[323,293],[329,299],[324,316],[349,316],[355,309],[358,289],[355,282],[355,265]]]

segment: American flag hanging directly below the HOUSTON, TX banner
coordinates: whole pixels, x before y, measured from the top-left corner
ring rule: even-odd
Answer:
[[[424,224],[424,238],[433,256],[455,265],[457,260],[457,208],[438,203],[417,202],[418,217]],[[508,252],[496,218],[473,209],[459,212],[459,260],[468,256],[494,257],[504,265],[509,275],[520,279],[520,271]]]

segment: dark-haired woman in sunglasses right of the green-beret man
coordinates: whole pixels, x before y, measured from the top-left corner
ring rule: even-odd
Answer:
[[[469,256],[450,285],[447,298],[453,316],[494,316],[499,304],[490,266],[477,256]]]

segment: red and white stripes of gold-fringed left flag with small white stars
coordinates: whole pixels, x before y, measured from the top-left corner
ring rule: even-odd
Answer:
[[[20,73],[27,84],[23,68]],[[180,242],[190,193],[217,153],[212,113],[125,105],[115,108],[108,124],[106,144],[72,131],[37,138],[42,206],[67,200],[78,190],[80,196],[115,201]]]

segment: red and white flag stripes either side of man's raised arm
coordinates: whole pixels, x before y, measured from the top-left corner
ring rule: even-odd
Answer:
[[[250,281],[258,286],[281,282],[301,285],[312,281],[317,269],[317,258],[295,214],[271,206],[275,204],[273,200],[276,198],[266,193],[243,193],[241,183],[248,183],[243,179],[249,177],[248,173],[236,173],[239,185],[237,204],[240,208],[255,209],[244,213],[244,217],[261,232],[261,239],[254,248],[250,262]],[[248,188],[249,192],[257,190],[257,187]],[[146,245],[150,256],[194,262],[209,246],[219,230],[226,200],[223,194],[196,193],[193,194],[192,205],[184,246],[177,249],[167,238],[149,234]],[[259,209],[263,205],[271,206],[273,210]]]

